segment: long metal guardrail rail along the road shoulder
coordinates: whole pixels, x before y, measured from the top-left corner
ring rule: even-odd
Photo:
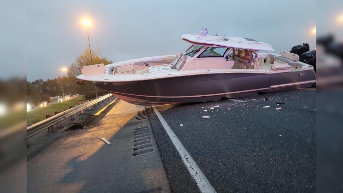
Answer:
[[[34,135],[36,135],[39,132],[42,132],[43,130],[47,129],[50,126],[55,125],[56,123],[68,118],[69,116],[87,108],[88,106],[92,106],[104,99],[109,98],[110,96],[112,96],[112,94],[106,94],[105,96],[102,96],[100,98],[94,99],[92,101],[88,101],[85,102],[83,104],[80,104],[78,106],[75,106],[72,109],[63,111],[59,114],[56,114],[54,116],[51,116],[43,121],[40,121],[38,123],[35,123],[29,127],[26,128],[26,139],[28,139],[29,137],[32,137]]]

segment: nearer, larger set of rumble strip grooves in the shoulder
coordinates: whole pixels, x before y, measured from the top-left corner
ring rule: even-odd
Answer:
[[[137,112],[137,114],[145,112]],[[150,131],[147,126],[133,129],[133,156],[138,156],[154,151]]]

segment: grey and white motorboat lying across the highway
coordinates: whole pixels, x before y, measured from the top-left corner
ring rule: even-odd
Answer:
[[[181,36],[190,44],[185,52],[84,66],[77,78],[137,105],[217,101],[316,83],[314,68],[295,53],[273,54],[267,43],[203,30]]]

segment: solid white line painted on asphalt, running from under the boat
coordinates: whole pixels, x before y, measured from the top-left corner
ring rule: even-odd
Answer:
[[[182,161],[184,161],[189,173],[191,174],[192,178],[197,182],[197,185],[202,193],[216,193],[213,186],[210,184],[209,180],[205,177],[205,175],[202,173],[200,168],[198,167],[197,163],[193,160],[193,158],[189,155],[188,151],[185,149],[184,145],[182,145],[181,141],[173,130],[171,130],[168,123],[164,120],[162,115],[158,112],[155,106],[152,106],[154,109],[155,114],[157,115],[159,121],[161,122],[164,130],[167,132],[169,138],[173,142],[176,150],[179,152]]]

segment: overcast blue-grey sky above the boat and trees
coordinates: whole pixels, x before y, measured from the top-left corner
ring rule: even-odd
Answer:
[[[18,11],[16,4],[10,6]],[[2,11],[26,22],[22,30],[8,23],[15,33],[5,33],[12,39],[5,38],[4,45],[11,48],[5,53],[5,64],[26,64],[28,81],[63,75],[61,67],[69,66],[83,52],[88,46],[86,29],[80,24],[83,17],[93,23],[89,29],[92,49],[100,48],[102,56],[114,62],[183,52],[188,44],[181,41],[181,35],[199,33],[199,27],[207,27],[209,35],[269,43],[275,53],[305,42],[312,49],[316,42],[311,34],[316,27],[313,0],[30,0],[25,8],[19,11],[26,18],[20,12],[14,15],[13,9]],[[18,58],[18,52],[26,57]]]

